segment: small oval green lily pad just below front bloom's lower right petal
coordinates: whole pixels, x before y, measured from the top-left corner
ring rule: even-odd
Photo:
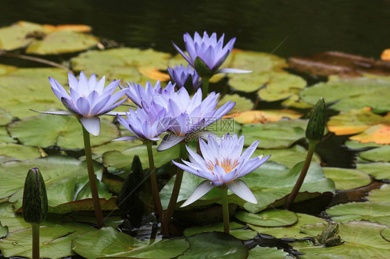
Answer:
[[[242,222],[256,226],[289,226],[298,221],[298,217],[294,212],[275,208],[256,214],[238,211],[235,217]]]

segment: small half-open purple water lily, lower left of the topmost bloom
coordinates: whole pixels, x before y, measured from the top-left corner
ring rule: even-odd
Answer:
[[[199,80],[198,73],[190,65],[187,68],[183,64],[180,64],[180,66],[176,65],[172,68],[168,67],[168,73],[178,87],[185,87],[187,91],[196,90],[202,84],[202,80]]]

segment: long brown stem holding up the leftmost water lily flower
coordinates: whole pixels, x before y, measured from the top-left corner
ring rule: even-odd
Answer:
[[[85,127],[83,125],[81,125],[81,127],[83,127],[85,160],[87,161],[88,178],[90,179],[91,194],[92,194],[92,200],[94,201],[96,222],[97,222],[98,229],[101,229],[101,227],[104,226],[104,220],[103,220],[103,213],[101,212],[101,207],[99,202],[99,193],[96,187],[96,176],[94,172],[94,163],[92,161],[90,132],[87,132],[87,130],[85,130]]]

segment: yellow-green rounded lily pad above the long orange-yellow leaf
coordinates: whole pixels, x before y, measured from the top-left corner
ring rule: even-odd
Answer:
[[[289,73],[274,73],[269,82],[257,93],[260,99],[273,102],[294,96],[306,87],[307,82],[298,75]]]

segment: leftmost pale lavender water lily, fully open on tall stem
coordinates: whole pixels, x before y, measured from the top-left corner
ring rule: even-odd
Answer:
[[[80,120],[87,132],[94,136],[100,133],[101,115],[117,115],[112,110],[121,105],[125,100],[121,99],[128,89],[122,89],[114,93],[120,80],[114,80],[107,87],[104,87],[105,77],[99,82],[96,75],[92,74],[90,80],[87,79],[83,71],[80,72],[80,78],[68,73],[69,91],[66,91],[62,85],[54,78],[49,77],[51,89],[58,99],[67,108],[67,111],[37,111],[42,114],[73,115]],[[121,114],[121,113],[119,113]]]

